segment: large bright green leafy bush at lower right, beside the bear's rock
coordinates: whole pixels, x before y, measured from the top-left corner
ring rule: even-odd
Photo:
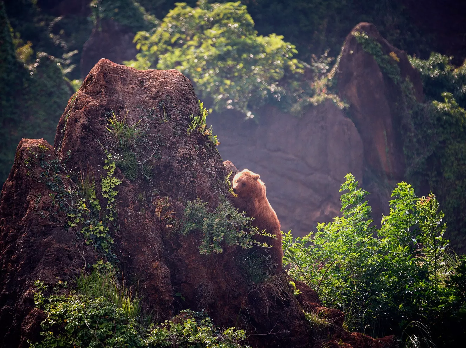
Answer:
[[[374,336],[399,335],[410,321],[432,328],[456,313],[466,288],[451,281],[462,274],[463,258],[446,250],[435,196],[417,198],[411,185],[398,184],[377,229],[367,191],[351,174],[340,191],[342,217],[304,237],[285,234],[283,263],[290,275],[315,288],[326,306],[348,313],[350,330],[369,329]]]

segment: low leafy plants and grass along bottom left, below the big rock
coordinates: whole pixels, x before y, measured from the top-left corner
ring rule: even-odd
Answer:
[[[46,319],[41,323],[41,340],[31,348],[52,347],[189,347],[240,348],[243,330],[220,331],[203,312],[190,310],[160,325],[144,328],[137,317],[137,298],[118,284],[112,273],[93,272],[77,279],[77,292],[46,294],[36,281],[34,303]]]

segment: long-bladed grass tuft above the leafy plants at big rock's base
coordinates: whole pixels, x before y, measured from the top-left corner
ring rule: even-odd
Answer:
[[[82,272],[76,279],[78,291],[92,299],[104,297],[115,306],[123,309],[123,313],[136,318],[141,313],[141,305],[137,293],[132,288],[127,288],[118,282],[117,275],[110,271],[92,273]]]

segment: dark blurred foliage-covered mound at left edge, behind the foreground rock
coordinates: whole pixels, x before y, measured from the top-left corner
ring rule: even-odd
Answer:
[[[0,4],[0,182],[7,178],[22,137],[53,143],[56,124],[71,95],[54,57],[33,54],[10,27]],[[15,46],[16,45],[16,46]],[[24,59],[20,61],[19,59]],[[24,65],[24,66],[23,66]]]

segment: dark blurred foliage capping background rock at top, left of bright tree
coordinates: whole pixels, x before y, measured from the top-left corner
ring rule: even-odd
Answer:
[[[158,20],[148,14],[144,7],[132,0],[93,0],[90,3],[92,19],[99,25],[100,20],[114,20],[130,28],[134,33],[140,30],[151,30]]]

